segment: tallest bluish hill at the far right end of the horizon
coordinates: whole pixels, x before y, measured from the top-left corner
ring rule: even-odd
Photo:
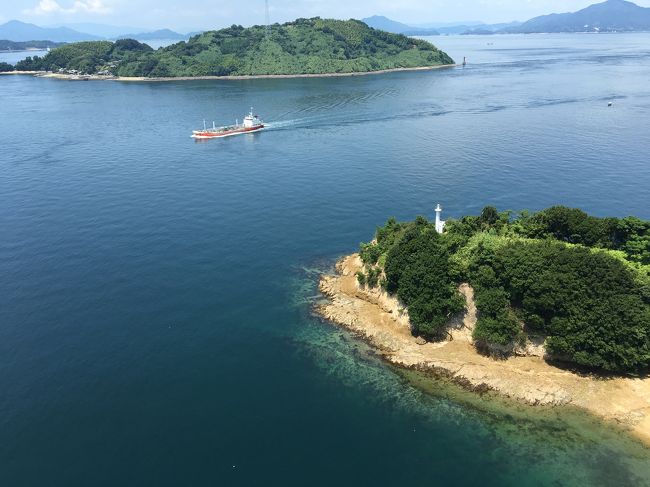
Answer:
[[[506,33],[628,32],[650,30],[650,8],[626,0],[608,0],[574,13],[535,17]]]

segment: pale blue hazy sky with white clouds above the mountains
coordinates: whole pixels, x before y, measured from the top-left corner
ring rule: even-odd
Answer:
[[[480,20],[507,22],[579,10],[598,0],[270,0],[271,20],[386,15],[417,24]],[[181,31],[264,23],[264,0],[2,0],[0,22],[39,25],[96,22]],[[650,7],[650,0],[636,2]]]

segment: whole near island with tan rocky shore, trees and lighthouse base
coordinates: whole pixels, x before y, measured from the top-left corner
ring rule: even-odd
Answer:
[[[318,312],[389,362],[650,443],[650,222],[565,207],[390,219],[336,271]]]

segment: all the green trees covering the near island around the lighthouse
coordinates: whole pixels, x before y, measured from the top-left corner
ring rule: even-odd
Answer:
[[[573,208],[513,217],[486,207],[449,221],[443,235],[421,217],[390,219],[361,257],[374,283],[408,306],[416,335],[439,338],[462,308],[458,285],[469,282],[477,346],[508,350],[535,334],[553,359],[639,371],[650,365],[649,228]]]

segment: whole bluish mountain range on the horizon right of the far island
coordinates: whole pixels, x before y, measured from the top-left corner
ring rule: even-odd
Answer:
[[[426,24],[430,28],[409,26],[382,16],[363,19],[370,27],[405,35],[438,34],[533,34],[553,32],[633,32],[650,31],[650,8],[626,0],[607,0],[573,13],[535,17],[527,22],[481,24]]]

